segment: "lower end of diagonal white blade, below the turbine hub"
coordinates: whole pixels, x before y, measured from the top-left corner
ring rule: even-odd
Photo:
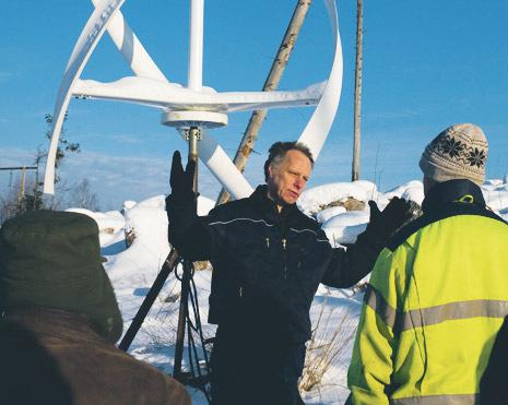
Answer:
[[[179,130],[178,132],[185,138],[184,131]],[[244,175],[205,129],[201,129],[198,155],[235,200],[249,196],[252,193],[253,189]]]

